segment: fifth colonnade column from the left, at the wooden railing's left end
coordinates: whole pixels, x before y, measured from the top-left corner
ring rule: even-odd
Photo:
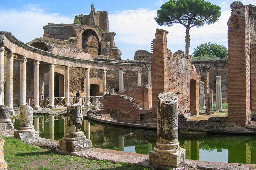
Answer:
[[[48,108],[56,108],[54,106],[54,64],[50,64],[50,73],[49,73],[49,106]]]

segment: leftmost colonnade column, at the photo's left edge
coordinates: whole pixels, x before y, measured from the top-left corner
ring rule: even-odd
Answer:
[[[4,105],[4,48],[0,48],[0,105]]]

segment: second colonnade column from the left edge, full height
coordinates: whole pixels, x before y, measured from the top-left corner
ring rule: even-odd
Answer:
[[[6,67],[6,106],[10,108],[10,114],[15,115],[13,109],[13,53],[7,54]]]

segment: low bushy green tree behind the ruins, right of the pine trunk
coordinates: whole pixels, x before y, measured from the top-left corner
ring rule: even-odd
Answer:
[[[227,59],[228,49],[224,45],[212,44],[208,42],[194,48],[193,56],[216,56],[219,59]]]

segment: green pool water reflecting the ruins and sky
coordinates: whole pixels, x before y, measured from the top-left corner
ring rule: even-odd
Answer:
[[[19,119],[13,119],[14,128],[19,128]],[[86,125],[84,120],[83,125]],[[37,116],[34,126],[39,136],[52,140],[64,137],[67,130],[66,117]],[[86,128],[87,127],[87,128]],[[148,154],[156,146],[157,132],[115,128],[87,121],[81,131],[90,130],[93,147]],[[188,135],[179,134],[179,142],[186,149],[186,159],[256,164],[256,137]]]

